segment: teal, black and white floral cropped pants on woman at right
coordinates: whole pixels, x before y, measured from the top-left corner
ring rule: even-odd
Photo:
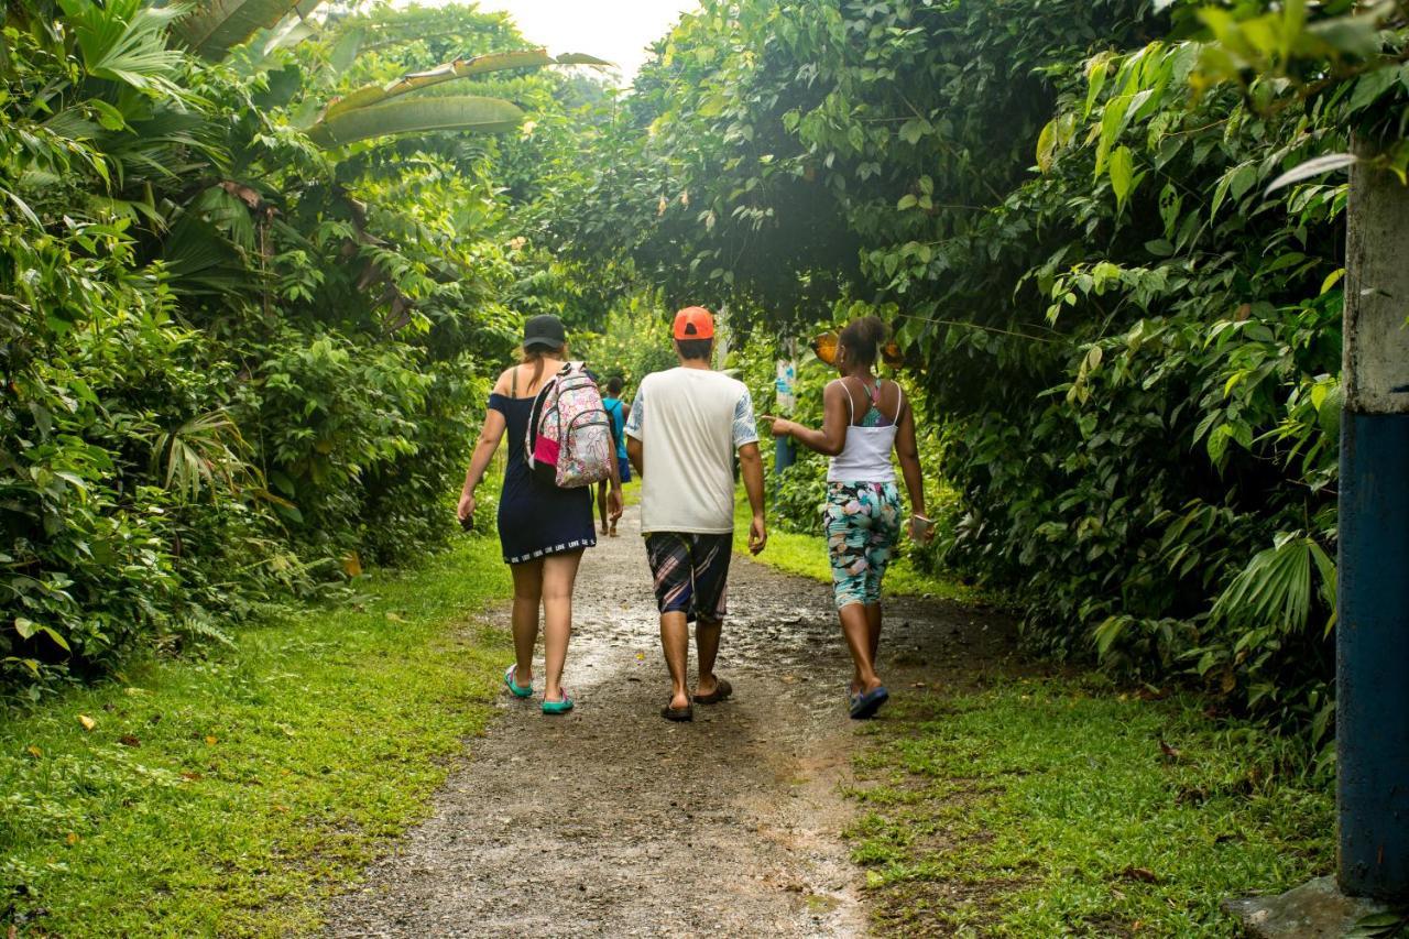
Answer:
[[[827,553],[837,609],[879,603],[881,578],[900,536],[900,493],[893,482],[828,482]]]

